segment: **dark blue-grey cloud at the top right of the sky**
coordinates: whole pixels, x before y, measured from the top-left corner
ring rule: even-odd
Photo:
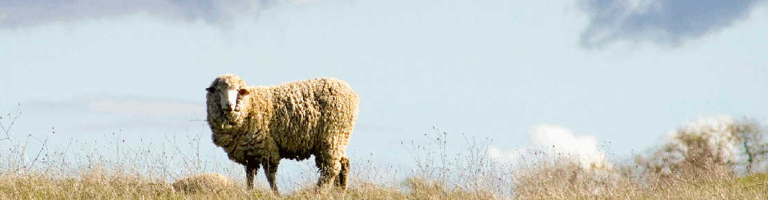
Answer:
[[[580,0],[589,15],[581,46],[599,48],[617,40],[679,46],[743,20],[765,0]]]

